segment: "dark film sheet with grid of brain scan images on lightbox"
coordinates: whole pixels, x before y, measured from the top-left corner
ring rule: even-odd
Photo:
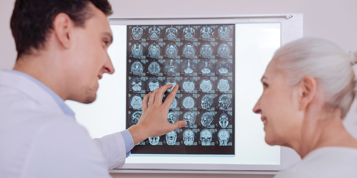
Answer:
[[[179,85],[167,120],[187,121],[131,153],[234,155],[234,60],[234,24],[127,26],[126,127],[137,124],[144,96],[165,84]]]

